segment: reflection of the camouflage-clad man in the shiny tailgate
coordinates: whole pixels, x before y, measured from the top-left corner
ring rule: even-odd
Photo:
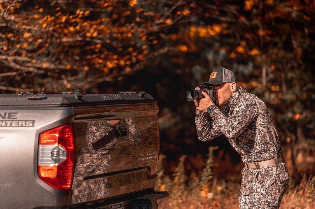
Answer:
[[[82,182],[85,176],[104,174],[109,170],[109,155],[117,141],[114,126],[119,120],[90,121],[85,134],[82,154],[78,158],[72,184],[72,204],[105,198],[108,195],[107,179]],[[125,118],[129,139],[140,140],[140,134],[131,118]]]

